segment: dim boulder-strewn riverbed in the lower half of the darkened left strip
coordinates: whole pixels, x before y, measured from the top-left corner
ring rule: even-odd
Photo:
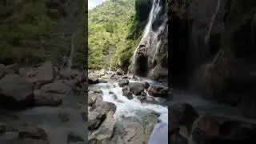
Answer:
[[[86,80],[52,62],[0,66],[0,143],[86,143]]]

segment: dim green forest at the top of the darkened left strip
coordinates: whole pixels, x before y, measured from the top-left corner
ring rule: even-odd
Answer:
[[[80,0],[8,0],[0,2],[0,63],[35,64],[69,56],[71,37],[82,68],[86,7]]]

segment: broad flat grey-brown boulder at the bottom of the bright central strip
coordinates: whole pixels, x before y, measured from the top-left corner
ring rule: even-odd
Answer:
[[[145,112],[140,113],[140,118],[127,117],[114,122],[112,113],[109,113],[102,126],[96,130],[94,135],[89,136],[89,142],[147,143],[156,122],[156,116]]]

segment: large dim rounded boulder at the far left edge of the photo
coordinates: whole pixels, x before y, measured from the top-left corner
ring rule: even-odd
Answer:
[[[0,80],[1,106],[14,108],[34,104],[34,94],[31,82],[18,74],[6,74]]]

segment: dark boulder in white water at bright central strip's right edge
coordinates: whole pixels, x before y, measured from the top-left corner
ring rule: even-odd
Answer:
[[[153,97],[168,97],[168,88],[162,86],[150,86],[148,89],[148,93]]]

